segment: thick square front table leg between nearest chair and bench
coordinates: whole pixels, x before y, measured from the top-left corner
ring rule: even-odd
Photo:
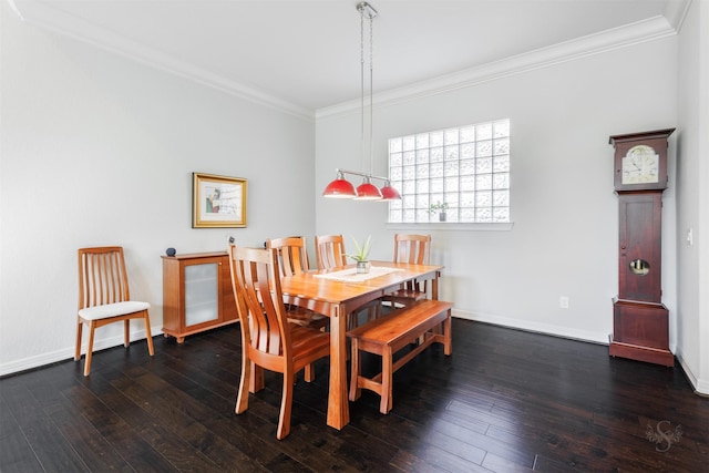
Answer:
[[[330,318],[330,388],[328,398],[328,425],[341,430],[350,422],[347,397],[347,312],[338,306]]]

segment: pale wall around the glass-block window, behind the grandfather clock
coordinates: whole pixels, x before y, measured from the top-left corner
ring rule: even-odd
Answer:
[[[589,55],[435,95],[374,105],[374,174],[387,174],[392,136],[510,117],[508,232],[387,227],[386,204],[316,199],[317,233],[372,234],[374,257],[391,258],[395,232],[432,233],[445,265],[444,299],[455,315],[608,342],[617,295],[618,202],[608,136],[677,125],[677,38]],[[380,68],[386,68],[380,64]],[[358,155],[357,113],[317,123],[318,194],[333,169],[368,168]],[[670,138],[670,168],[675,138]],[[677,308],[674,171],[665,192],[664,302]],[[403,228],[403,229],[402,229]],[[569,308],[559,308],[568,296]]]

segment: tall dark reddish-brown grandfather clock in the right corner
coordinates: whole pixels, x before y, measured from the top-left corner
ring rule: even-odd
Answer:
[[[669,311],[662,305],[662,192],[667,138],[675,128],[610,136],[619,203],[618,296],[613,302],[612,357],[672,367]]]

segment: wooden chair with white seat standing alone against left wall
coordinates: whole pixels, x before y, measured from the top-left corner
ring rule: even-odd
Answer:
[[[79,249],[79,312],[74,360],[81,359],[81,338],[85,323],[89,326],[85,377],[91,372],[93,340],[99,327],[123,321],[123,345],[127,348],[131,345],[131,319],[143,319],[147,351],[151,357],[155,353],[151,336],[151,319],[147,313],[150,307],[148,302],[131,300],[122,247],[102,246]]]

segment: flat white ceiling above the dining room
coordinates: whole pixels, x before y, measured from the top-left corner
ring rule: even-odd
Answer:
[[[305,115],[361,96],[358,0],[8,1],[30,23]],[[674,33],[689,1],[371,0],[374,93]]]

